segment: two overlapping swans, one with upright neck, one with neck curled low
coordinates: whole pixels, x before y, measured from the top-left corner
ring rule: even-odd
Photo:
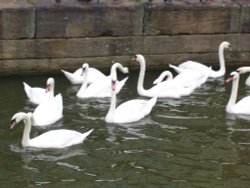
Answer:
[[[137,92],[141,96],[146,97],[159,97],[159,98],[180,98],[181,96],[190,95],[194,89],[200,86],[202,82],[205,82],[207,76],[205,74],[193,72],[192,74],[188,74],[186,71],[185,73],[181,73],[176,78],[173,79],[172,73],[163,72],[158,79],[155,80],[155,86],[151,87],[150,89],[144,89],[144,77],[146,71],[146,62],[145,58],[141,54],[137,54],[133,61],[137,61],[140,64],[140,72],[137,82]],[[163,78],[168,76],[168,80],[162,82]],[[188,79],[190,79],[188,83]]]

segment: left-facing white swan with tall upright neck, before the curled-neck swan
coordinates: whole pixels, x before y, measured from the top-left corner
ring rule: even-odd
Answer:
[[[141,54],[137,54],[134,58],[132,58],[133,61],[137,61],[140,64],[140,73],[138,77],[137,82],[137,92],[141,96],[146,97],[159,97],[159,98],[180,98],[181,96],[189,95],[193,89],[191,88],[185,88],[185,87],[178,87],[174,84],[157,84],[150,89],[144,89],[143,82],[145,77],[145,71],[146,71],[146,62],[144,57]]]

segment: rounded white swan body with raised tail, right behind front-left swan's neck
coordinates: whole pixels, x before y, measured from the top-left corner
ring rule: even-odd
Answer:
[[[63,99],[58,94],[53,98],[43,101],[33,112],[35,126],[51,125],[63,117]]]

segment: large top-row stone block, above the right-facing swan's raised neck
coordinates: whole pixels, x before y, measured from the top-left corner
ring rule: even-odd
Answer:
[[[145,6],[144,34],[228,33],[230,8]]]

